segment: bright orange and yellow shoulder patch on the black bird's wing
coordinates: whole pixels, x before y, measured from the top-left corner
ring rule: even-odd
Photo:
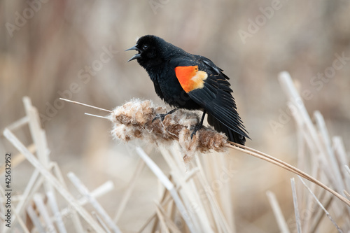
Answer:
[[[208,74],[204,71],[199,71],[198,66],[176,66],[175,75],[185,92],[203,88],[204,80]]]

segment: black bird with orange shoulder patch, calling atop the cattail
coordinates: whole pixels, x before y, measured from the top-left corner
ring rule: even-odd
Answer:
[[[193,55],[158,36],[142,36],[128,50],[137,50],[128,62],[137,62],[146,69],[158,96],[175,109],[202,110],[202,120],[193,134],[203,125],[208,113],[209,125],[223,132],[230,141],[244,145],[249,138],[237,113],[228,76],[210,59]],[[127,50],[125,50],[127,51]],[[165,115],[160,115],[160,120]]]

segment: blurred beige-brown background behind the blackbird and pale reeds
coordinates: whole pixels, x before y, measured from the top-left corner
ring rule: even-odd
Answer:
[[[349,1],[5,0],[0,10],[0,129],[25,115],[22,97],[30,97],[41,113],[50,156],[63,174],[74,171],[91,189],[109,179],[116,184],[117,190],[101,201],[112,203],[111,213],[137,155],[132,146],[112,140],[108,121],[84,115],[103,113],[58,98],[106,109],[134,97],[163,104],[146,71],[137,62],[127,63],[133,53],[124,52],[145,34],[209,57],[225,71],[253,139],[247,146],[295,161],[293,119],[272,127],[288,112],[277,76],[289,71],[300,91],[308,93],[309,113],[321,111],[330,135],[342,136],[350,150]],[[26,130],[16,135],[31,142]],[[1,144],[1,154],[15,153],[3,137]],[[156,151],[151,154],[165,166]],[[276,192],[283,213],[293,218],[291,175],[245,155],[232,160],[238,232],[278,232],[265,191]],[[21,164],[20,169],[22,174],[13,171],[19,190],[31,167]],[[144,223],[157,196],[156,182],[144,170],[123,227],[137,230]]]

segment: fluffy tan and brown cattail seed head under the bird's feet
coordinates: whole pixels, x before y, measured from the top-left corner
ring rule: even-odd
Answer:
[[[167,113],[164,107],[155,106],[150,100],[132,99],[111,113],[113,137],[124,142],[146,139],[158,145],[175,141],[183,150],[184,160],[190,160],[198,152],[224,150],[227,137],[213,129],[202,127],[191,139],[191,127],[200,122],[197,114],[179,109],[165,116],[162,122],[159,119],[152,122],[157,114],[164,113]]]

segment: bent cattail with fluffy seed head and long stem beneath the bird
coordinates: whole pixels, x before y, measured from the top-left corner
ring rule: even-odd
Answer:
[[[80,104],[75,101],[71,102]],[[86,104],[81,105],[88,106]],[[102,108],[101,110],[106,111]],[[193,139],[190,139],[190,127],[197,124],[199,120],[195,113],[190,113],[180,109],[175,113],[167,115],[163,122],[160,122],[160,120],[152,122],[155,116],[159,113],[166,113],[166,109],[155,106],[153,102],[149,100],[141,101],[139,99],[133,99],[127,104],[117,107],[112,111],[110,115],[110,120],[114,124],[112,134],[116,139],[125,142],[132,139],[147,139],[148,141],[158,144],[167,144],[168,142],[178,141],[183,150],[183,155],[185,155],[183,157],[185,162],[188,162],[195,153],[204,153],[209,152],[210,150],[220,152],[223,151],[223,148],[225,147],[239,150],[306,178],[332,193],[332,195],[335,195],[335,197],[350,206],[349,199],[346,199],[338,192],[335,192],[335,190],[328,188],[328,186],[304,171],[293,167],[287,162],[272,157],[271,155],[267,155],[266,153],[262,153],[253,148],[248,148],[247,146],[242,146],[238,143],[227,141],[227,137],[224,134],[204,127],[193,136]]]

